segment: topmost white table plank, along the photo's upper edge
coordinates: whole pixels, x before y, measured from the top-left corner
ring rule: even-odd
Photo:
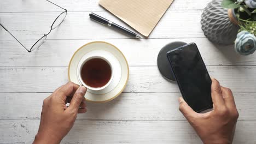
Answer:
[[[53,0],[68,11],[105,11],[97,0]],[[174,1],[168,10],[202,10],[210,0]],[[62,9],[44,0],[16,1],[1,0],[0,13],[61,11]]]

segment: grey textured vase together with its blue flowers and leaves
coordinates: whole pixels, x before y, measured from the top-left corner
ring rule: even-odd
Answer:
[[[213,0],[202,13],[202,30],[217,44],[234,44],[249,55],[256,49],[256,0]],[[238,33],[238,34],[237,34]]]

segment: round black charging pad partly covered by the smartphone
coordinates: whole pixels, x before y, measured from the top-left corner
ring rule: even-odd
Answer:
[[[175,81],[174,75],[172,73],[172,67],[170,62],[167,58],[167,52],[183,45],[186,45],[182,41],[175,41],[173,43],[167,44],[166,46],[162,47],[160,52],[158,53],[158,69],[161,75],[168,81]]]

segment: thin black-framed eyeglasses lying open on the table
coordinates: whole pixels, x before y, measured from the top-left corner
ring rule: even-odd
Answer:
[[[48,0],[46,0],[46,1],[48,1]],[[50,1],[48,1],[48,2],[50,2]],[[49,32],[48,34],[50,34],[53,29],[55,29],[56,27],[60,26],[60,24],[63,22],[63,20],[64,20],[65,17],[67,16],[67,10],[66,10],[66,9],[60,7],[59,5],[57,5],[57,4],[53,3],[53,2],[50,2],[50,3],[56,5],[57,7],[59,7],[59,8],[61,8],[61,9],[65,10],[65,11],[63,11],[63,12],[54,20],[53,24],[51,25],[50,32]],[[11,36],[13,36],[14,39],[16,39],[16,38],[14,37],[14,35],[11,34],[11,33],[7,30],[7,28],[5,28],[1,23],[0,23],[0,25],[5,29],[5,31],[7,31]],[[34,45],[33,45],[30,49],[27,49],[24,45],[22,45],[18,39],[16,39],[16,40],[17,40],[28,52],[32,52],[33,50],[38,49],[38,47],[40,47],[40,46],[44,43],[44,40],[47,38],[47,35],[48,35],[48,34],[44,34],[43,37],[40,38],[39,40],[37,40],[37,42],[34,43]]]

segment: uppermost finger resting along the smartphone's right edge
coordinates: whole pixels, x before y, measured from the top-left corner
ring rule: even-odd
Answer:
[[[224,99],[222,96],[222,89],[220,88],[219,82],[216,79],[212,79],[212,101],[215,105],[214,107],[222,107],[225,106]]]

